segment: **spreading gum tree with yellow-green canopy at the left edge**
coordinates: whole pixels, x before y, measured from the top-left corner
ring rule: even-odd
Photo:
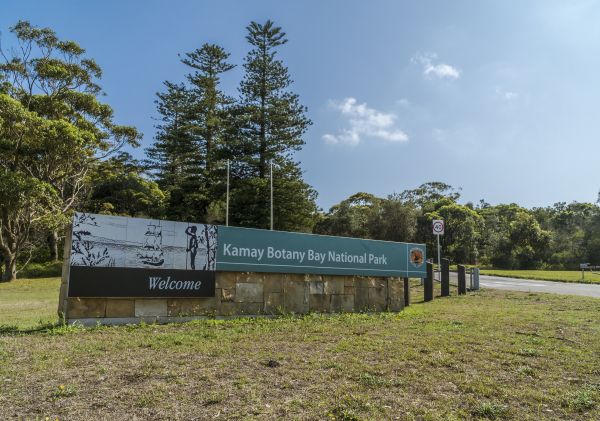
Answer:
[[[88,173],[124,144],[133,127],[113,122],[98,101],[101,69],[73,41],[19,21],[15,45],[0,46],[0,254],[3,280],[33,235],[63,226],[81,200]],[[22,257],[22,256],[21,256]]]

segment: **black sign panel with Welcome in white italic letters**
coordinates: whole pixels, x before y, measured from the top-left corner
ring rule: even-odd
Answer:
[[[215,272],[71,266],[69,297],[214,297]]]

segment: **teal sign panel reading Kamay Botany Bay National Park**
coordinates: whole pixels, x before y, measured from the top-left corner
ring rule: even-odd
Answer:
[[[423,278],[422,244],[219,227],[217,270]]]

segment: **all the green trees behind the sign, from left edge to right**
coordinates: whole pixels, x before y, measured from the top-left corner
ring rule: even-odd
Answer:
[[[16,48],[0,48],[0,258],[3,280],[29,262],[58,261],[74,210],[267,228],[273,171],[274,226],[392,241],[425,242],[446,221],[443,253],[454,262],[501,268],[576,268],[600,262],[599,208],[557,204],[460,204],[444,183],[378,198],[357,193],[328,212],[302,176],[295,152],[311,124],[278,52],[286,34],[250,23],[236,92],[221,87],[233,63],[204,44],[180,57],[181,82],[157,93],[152,144],[140,160],[122,151],[141,134],[114,122],[102,102],[100,66],[73,41],[20,21]]]

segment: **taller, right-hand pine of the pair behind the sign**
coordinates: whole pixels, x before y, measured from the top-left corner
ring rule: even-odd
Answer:
[[[298,95],[290,91],[288,69],[277,57],[278,47],[287,42],[286,34],[270,20],[252,22],[247,30],[252,49],[245,58],[240,85],[232,220],[238,225],[269,227],[273,163],[275,228],[309,231],[316,212],[316,192],[302,180],[294,152],[304,145],[302,136],[312,123]]]

